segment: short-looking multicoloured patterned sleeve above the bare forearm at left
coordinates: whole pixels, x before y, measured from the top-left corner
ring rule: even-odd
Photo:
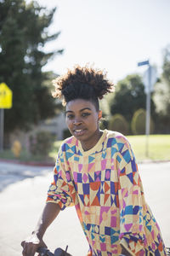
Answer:
[[[68,176],[69,171],[65,170],[63,154],[59,154],[54,167],[54,181],[48,189],[47,202],[59,204],[61,210],[73,205]]]

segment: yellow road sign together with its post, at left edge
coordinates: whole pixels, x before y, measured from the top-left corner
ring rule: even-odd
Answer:
[[[0,84],[0,151],[3,151],[4,108],[12,108],[13,93],[7,84]]]

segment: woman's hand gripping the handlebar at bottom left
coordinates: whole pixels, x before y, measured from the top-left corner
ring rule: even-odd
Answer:
[[[23,247],[23,256],[34,256],[38,247],[47,247],[44,241],[39,239],[35,233],[32,233],[25,241],[22,241],[21,246]]]

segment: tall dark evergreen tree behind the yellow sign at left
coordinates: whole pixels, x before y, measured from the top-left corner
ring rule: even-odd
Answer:
[[[13,91],[13,108],[5,110],[5,131],[28,129],[54,115],[55,101],[46,83],[51,74],[42,72],[54,55],[63,52],[43,49],[59,36],[48,34],[54,12],[36,1],[0,1],[0,83]]]

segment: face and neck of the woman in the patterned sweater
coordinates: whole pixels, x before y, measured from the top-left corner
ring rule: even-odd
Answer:
[[[92,102],[77,99],[66,105],[66,125],[71,134],[82,143],[82,148],[93,148],[100,137],[99,119],[101,110],[97,111]]]

